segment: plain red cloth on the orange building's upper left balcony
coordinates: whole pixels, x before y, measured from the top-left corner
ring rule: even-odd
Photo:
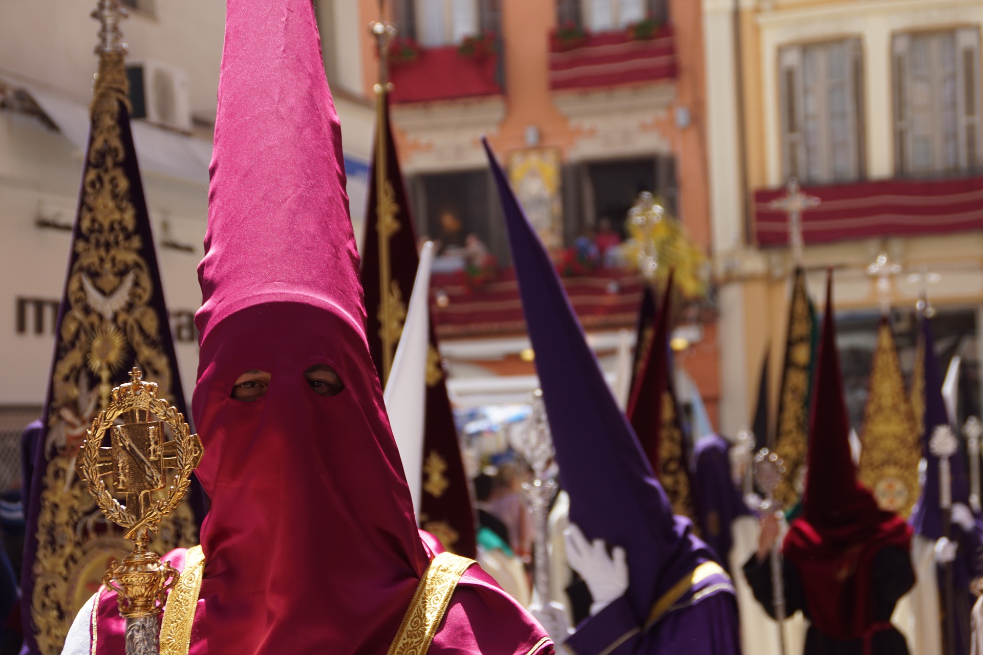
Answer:
[[[433,48],[399,41],[389,62],[390,98],[408,103],[499,95],[500,60],[501,40],[491,35]]]

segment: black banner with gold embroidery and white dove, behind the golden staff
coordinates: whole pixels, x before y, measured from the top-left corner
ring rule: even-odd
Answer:
[[[185,411],[167,308],[130,131],[122,52],[100,55],[79,211],[55,333],[43,427],[30,481],[22,603],[30,653],[57,655],[79,608],[114,559],[133,550],[108,523],[75,461],[92,418],[139,365]],[[197,543],[189,501],[150,544]]]

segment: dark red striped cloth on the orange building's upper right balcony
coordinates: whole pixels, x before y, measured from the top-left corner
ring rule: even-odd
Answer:
[[[589,33],[561,27],[549,35],[549,87],[581,89],[656,82],[676,75],[671,26]]]

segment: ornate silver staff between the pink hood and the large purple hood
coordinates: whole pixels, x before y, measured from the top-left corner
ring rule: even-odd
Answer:
[[[523,421],[515,446],[533,469],[532,481],[524,482],[522,490],[529,503],[529,514],[533,516],[533,556],[536,558],[533,588],[540,603],[546,606],[549,604],[549,503],[558,487],[550,475],[553,469],[552,437],[541,389],[533,392],[529,404],[533,410]]]

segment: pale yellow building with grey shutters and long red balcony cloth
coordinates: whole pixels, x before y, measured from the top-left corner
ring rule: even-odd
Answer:
[[[803,214],[804,265],[815,300],[825,268],[835,269],[855,427],[882,304],[893,307],[909,368],[912,311],[922,294],[944,363],[962,359],[959,414],[978,412],[983,6],[963,0],[702,6],[723,429],[748,424],[769,344],[777,392],[793,262],[787,217],[770,201],[791,177],[821,200]],[[890,274],[879,287],[871,264],[882,253]]]

